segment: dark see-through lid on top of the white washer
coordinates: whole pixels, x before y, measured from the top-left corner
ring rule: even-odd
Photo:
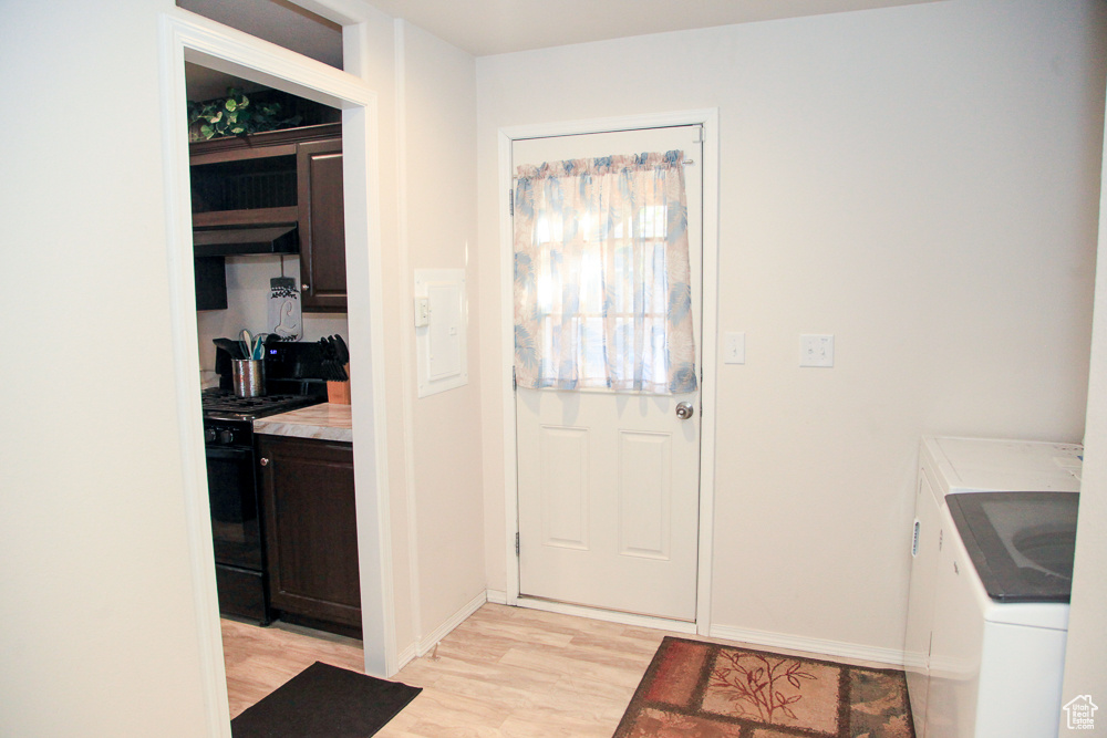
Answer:
[[[975,492],[945,498],[987,596],[1068,602],[1078,492]]]

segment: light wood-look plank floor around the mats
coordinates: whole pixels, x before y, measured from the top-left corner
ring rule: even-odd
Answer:
[[[393,677],[424,689],[377,735],[610,738],[665,635],[486,604]],[[359,641],[228,620],[223,638],[231,717],[315,661],[362,671]]]

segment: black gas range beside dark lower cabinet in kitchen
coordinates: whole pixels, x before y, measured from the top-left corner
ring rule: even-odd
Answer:
[[[292,386],[292,388],[301,388]],[[302,389],[320,389],[304,383]],[[254,420],[327,402],[325,395],[277,393],[238,397],[227,388],[205,389],[204,441],[215,542],[219,611],[268,625],[265,531],[257,484]]]

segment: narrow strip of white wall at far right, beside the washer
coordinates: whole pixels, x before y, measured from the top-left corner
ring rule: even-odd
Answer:
[[[1107,127],[1104,129],[1107,144]],[[1073,602],[1068,619],[1068,648],[1062,704],[1078,695],[1090,695],[1103,708],[1097,723],[1107,723],[1107,157],[1099,190],[1099,249],[1096,264],[1096,319],[1092,333],[1092,368],[1088,382],[1088,415],[1084,435],[1084,472],[1080,484],[1080,513],[1076,533],[1076,565],[1073,571]],[[1067,735],[1066,716],[1061,716],[1062,735]],[[1082,730],[1086,735],[1087,731]]]

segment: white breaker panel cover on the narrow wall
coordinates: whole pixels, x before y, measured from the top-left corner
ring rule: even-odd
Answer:
[[[468,299],[464,269],[415,270],[418,396],[468,383]]]

